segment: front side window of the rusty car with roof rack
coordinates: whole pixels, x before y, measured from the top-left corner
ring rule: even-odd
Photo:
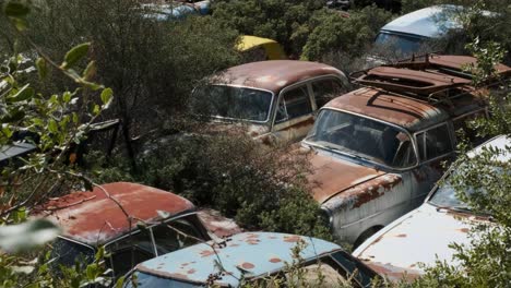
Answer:
[[[442,124],[417,134],[420,160],[429,160],[452,152],[449,128]]]

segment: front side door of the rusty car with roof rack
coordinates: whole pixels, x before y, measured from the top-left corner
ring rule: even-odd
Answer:
[[[454,135],[449,123],[428,128],[415,133],[419,166],[413,171],[415,189],[411,204],[418,206],[444,172],[443,163],[454,159]]]

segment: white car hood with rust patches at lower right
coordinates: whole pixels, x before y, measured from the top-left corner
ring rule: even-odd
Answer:
[[[418,263],[432,266],[437,260],[445,260],[455,264],[455,251],[449,244],[470,243],[467,219],[470,215],[437,211],[426,203],[369,238],[353,255],[391,280],[405,273],[413,279],[424,274]]]

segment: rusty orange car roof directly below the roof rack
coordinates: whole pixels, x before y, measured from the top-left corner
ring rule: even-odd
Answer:
[[[433,104],[379,88],[365,87],[336,97],[323,109],[340,109],[368,116],[415,132],[485,106],[484,101],[472,94],[465,94],[453,101],[452,106]]]

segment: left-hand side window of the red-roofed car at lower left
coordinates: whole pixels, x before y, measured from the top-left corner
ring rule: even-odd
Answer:
[[[150,230],[142,230],[126,237],[107,247],[111,253],[109,268],[114,269],[116,277],[122,276],[136,264],[155,257]]]

